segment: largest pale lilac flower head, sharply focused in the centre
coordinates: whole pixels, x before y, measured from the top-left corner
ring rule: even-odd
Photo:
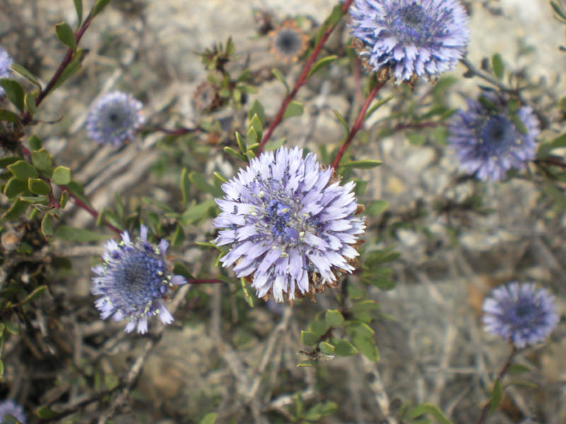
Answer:
[[[246,277],[258,297],[312,298],[354,270],[365,230],[354,182],[340,186],[313,153],[303,158],[298,147],[262,153],[222,189],[214,226],[224,230],[214,242],[231,245],[222,264],[236,264],[236,275]]]

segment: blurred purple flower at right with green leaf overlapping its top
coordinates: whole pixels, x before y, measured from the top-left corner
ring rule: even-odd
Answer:
[[[522,169],[536,156],[538,119],[531,107],[516,110],[526,130],[521,132],[509,111],[491,93],[483,93],[489,106],[468,100],[468,111],[458,111],[449,124],[449,144],[456,151],[460,166],[480,179],[503,179],[511,168]]]

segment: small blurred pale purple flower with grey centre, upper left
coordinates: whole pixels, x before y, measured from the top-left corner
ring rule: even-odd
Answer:
[[[86,118],[88,136],[100,144],[116,147],[127,143],[144,123],[143,107],[131,94],[113,91],[103,95]]]

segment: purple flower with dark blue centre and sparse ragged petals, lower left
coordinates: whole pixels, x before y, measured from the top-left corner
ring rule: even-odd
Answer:
[[[158,315],[163,324],[171,324],[173,317],[165,306],[166,293],[173,285],[185,284],[185,278],[172,275],[171,264],[166,259],[166,240],[152,245],[147,241],[147,227],[141,225],[139,239],[132,242],[127,231],[122,241],[108,240],[102,255],[104,264],[95,266],[93,295],[100,295],[95,302],[100,317],[112,315],[115,321],[127,319],[125,331],[147,332],[147,319]]]

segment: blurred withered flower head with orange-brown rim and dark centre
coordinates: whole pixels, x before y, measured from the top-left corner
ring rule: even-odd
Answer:
[[[279,60],[295,62],[306,50],[308,36],[293,19],[284,20],[275,30],[270,31],[269,35],[270,52]]]

